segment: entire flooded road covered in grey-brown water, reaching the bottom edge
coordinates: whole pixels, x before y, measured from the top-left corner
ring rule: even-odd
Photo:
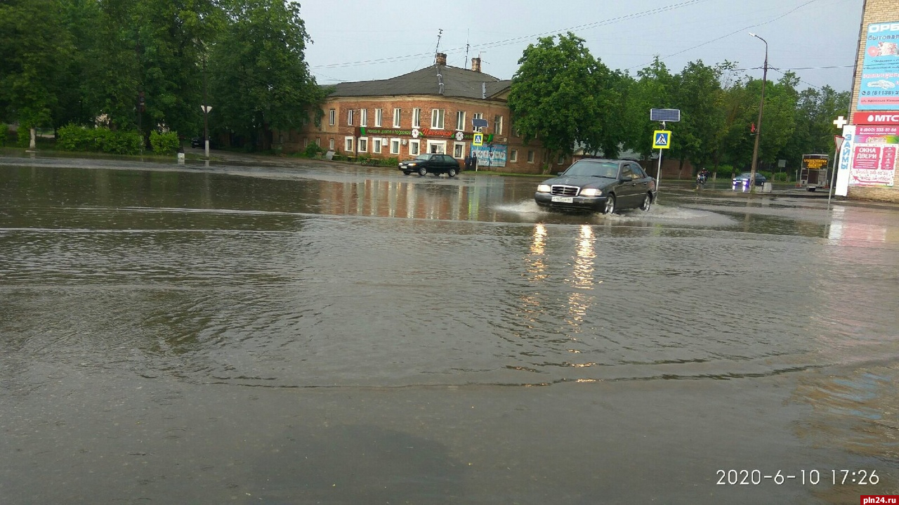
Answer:
[[[899,210],[537,182],[0,158],[0,502],[899,494]]]

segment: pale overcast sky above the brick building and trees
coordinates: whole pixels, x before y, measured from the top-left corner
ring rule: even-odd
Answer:
[[[481,56],[482,70],[512,78],[528,44],[573,31],[592,55],[630,75],[655,55],[678,73],[690,61],[733,61],[761,77],[794,70],[804,84],[850,89],[863,0],[307,0],[300,15],[319,84],[386,79],[433,63]],[[899,13],[896,14],[899,20]],[[470,45],[466,58],[466,44]],[[769,79],[781,75],[769,71]]]

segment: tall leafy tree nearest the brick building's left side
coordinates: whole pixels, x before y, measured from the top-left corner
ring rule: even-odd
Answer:
[[[325,98],[304,59],[306,25],[288,0],[222,4],[227,22],[209,54],[213,119],[269,149],[272,129],[301,128]]]

